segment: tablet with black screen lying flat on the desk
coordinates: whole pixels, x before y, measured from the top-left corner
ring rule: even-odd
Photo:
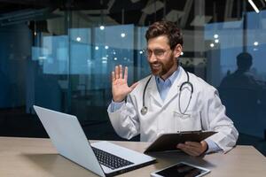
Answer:
[[[179,162],[176,165],[171,165],[167,168],[164,168],[160,171],[151,173],[152,177],[200,177],[207,173],[210,173],[210,170],[207,168],[202,168],[197,165],[192,165],[186,162]]]

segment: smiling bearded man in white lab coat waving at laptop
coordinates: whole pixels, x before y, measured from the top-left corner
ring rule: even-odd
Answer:
[[[152,76],[128,86],[128,68],[112,73],[113,102],[109,118],[118,135],[153,142],[160,134],[177,131],[214,130],[218,133],[202,142],[176,144],[189,155],[230,150],[238,131],[215,88],[178,65],[183,37],[172,22],[153,23],[146,32],[147,59]]]

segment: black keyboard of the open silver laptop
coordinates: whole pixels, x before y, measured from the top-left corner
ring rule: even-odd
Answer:
[[[107,167],[111,168],[112,170],[116,168],[121,168],[126,165],[132,165],[132,162],[129,162],[126,159],[119,158],[117,156],[114,156],[113,154],[110,154],[104,150],[99,150],[97,148],[92,147],[92,150],[94,151],[96,157],[98,158],[98,162],[101,165],[106,165]]]

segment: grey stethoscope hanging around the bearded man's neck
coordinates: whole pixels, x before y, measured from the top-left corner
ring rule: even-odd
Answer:
[[[188,107],[189,107],[189,105],[191,104],[191,100],[192,100],[192,94],[193,94],[193,85],[192,85],[192,82],[190,82],[190,76],[189,76],[189,74],[186,72],[186,71],[184,71],[185,73],[186,73],[186,76],[187,76],[187,81],[184,81],[182,84],[181,84],[181,86],[180,86],[180,88],[179,88],[179,92],[180,92],[180,94],[179,94],[179,98],[178,98],[178,109],[179,109],[179,112],[181,113],[181,114],[183,114],[183,115],[185,115],[185,112],[187,111],[187,109],[188,109]],[[144,89],[144,92],[143,92],[143,96],[142,96],[142,108],[141,108],[141,110],[140,110],[140,112],[141,112],[141,114],[142,115],[145,115],[147,112],[148,112],[148,107],[147,106],[145,106],[145,92],[146,92],[146,89],[147,89],[147,87],[148,87],[148,84],[149,84],[149,82],[151,81],[151,79],[152,79],[152,77],[153,77],[153,75],[149,78],[149,80],[146,82],[146,84],[145,84],[145,89]],[[190,87],[191,87],[191,96],[190,96],[190,99],[189,99],[189,102],[188,102],[188,104],[186,105],[186,107],[185,107],[185,109],[184,109],[184,112],[182,112],[182,110],[181,110],[181,104],[180,104],[180,97],[181,97],[181,93],[182,93],[182,89],[183,89],[183,87],[184,87],[184,85],[185,84],[187,84],[187,85],[189,85]]]

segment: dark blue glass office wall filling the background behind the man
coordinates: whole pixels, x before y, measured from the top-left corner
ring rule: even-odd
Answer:
[[[218,89],[238,143],[266,154],[266,4],[254,3],[259,13],[240,0],[1,1],[0,135],[47,137],[37,104],[76,115],[90,139],[121,140],[111,72],[127,65],[129,85],[150,74],[145,31],[167,19],[183,30],[180,65]]]

